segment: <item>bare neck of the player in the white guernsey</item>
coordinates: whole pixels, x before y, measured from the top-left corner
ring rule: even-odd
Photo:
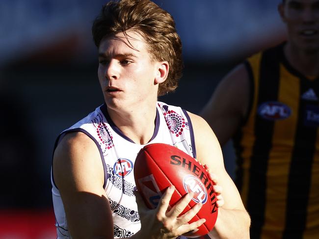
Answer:
[[[133,142],[146,144],[152,138],[157,114],[156,104],[125,112],[109,108],[107,111],[117,128]]]

